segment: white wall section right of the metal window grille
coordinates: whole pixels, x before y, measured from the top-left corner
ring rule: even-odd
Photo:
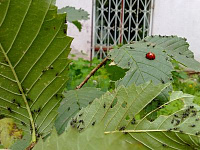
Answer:
[[[152,34],[186,37],[200,61],[200,0],[155,0]]]

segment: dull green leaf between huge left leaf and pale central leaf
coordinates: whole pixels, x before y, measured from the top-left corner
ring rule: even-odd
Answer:
[[[58,112],[55,125],[58,134],[61,134],[67,127],[68,121],[74,117],[81,108],[88,106],[95,98],[99,98],[104,92],[96,88],[82,88],[66,91]]]

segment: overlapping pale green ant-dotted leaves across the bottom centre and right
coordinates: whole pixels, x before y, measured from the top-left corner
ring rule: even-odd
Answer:
[[[200,107],[193,103],[192,95],[173,92],[169,102],[139,120],[134,119],[165,87],[146,83],[138,87],[120,87],[112,94],[106,93],[82,109],[72,119],[67,132],[58,137],[54,131],[45,142],[40,140],[34,149],[92,150],[98,147],[120,150],[122,145],[124,149],[199,149]],[[113,103],[115,100],[116,103]],[[184,104],[182,109],[159,116],[153,122],[147,120],[151,113],[177,100]]]

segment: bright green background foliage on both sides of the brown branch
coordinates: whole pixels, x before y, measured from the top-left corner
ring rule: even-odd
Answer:
[[[100,60],[94,58],[92,65],[90,61],[79,58],[73,60],[70,64],[69,81],[67,83],[67,90],[73,90],[79,85],[87,75],[99,64]],[[110,80],[118,80],[125,75],[125,71],[117,66],[110,66],[110,61],[101,67],[84,85],[84,87],[101,88],[102,91],[114,89],[114,82]],[[118,73],[116,73],[116,71]]]

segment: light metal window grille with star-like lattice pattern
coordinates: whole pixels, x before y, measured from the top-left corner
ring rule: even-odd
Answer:
[[[94,0],[92,57],[149,34],[153,0]]]

